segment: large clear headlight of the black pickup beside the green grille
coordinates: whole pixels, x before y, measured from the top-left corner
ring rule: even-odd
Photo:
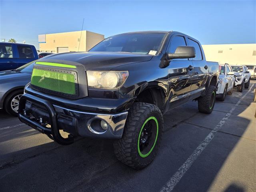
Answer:
[[[124,84],[128,71],[86,71],[89,88],[116,89]]]

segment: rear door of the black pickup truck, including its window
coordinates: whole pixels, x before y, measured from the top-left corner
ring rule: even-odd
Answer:
[[[202,47],[197,40],[188,37],[188,44],[196,49],[196,57],[192,58],[194,73],[191,91],[201,92],[205,89],[208,78],[208,69],[204,68],[206,66],[206,59]]]

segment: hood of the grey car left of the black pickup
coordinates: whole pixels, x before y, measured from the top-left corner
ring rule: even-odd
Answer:
[[[0,71],[0,84],[22,80],[30,81],[30,76],[31,74],[29,73],[16,72],[12,70]]]

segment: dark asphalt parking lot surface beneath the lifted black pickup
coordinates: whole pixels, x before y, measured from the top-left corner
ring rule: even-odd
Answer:
[[[256,191],[255,83],[210,115],[197,102],[165,114],[160,151],[143,170],[120,163],[111,140],[60,146],[0,111],[0,191]]]

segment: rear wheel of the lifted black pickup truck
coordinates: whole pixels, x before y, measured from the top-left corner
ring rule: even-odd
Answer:
[[[198,98],[198,110],[201,113],[210,114],[214,108],[216,99],[215,86],[209,86],[205,95]]]

